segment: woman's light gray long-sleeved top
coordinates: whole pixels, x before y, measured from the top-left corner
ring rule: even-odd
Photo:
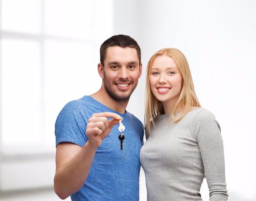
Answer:
[[[223,141],[214,115],[200,107],[173,123],[168,114],[154,119],[140,150],[148,201],[202,200],[206,177],[210,201],[227,200]]]

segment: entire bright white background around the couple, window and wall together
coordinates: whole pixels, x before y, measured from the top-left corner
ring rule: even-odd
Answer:
[[[5,1],[1,0],[1,2],[3,3]],[[23,2],[27,2],[28,7],[34,1],[26,0]],[[47,1],[43,2],[48,5]],[[20,70],[18,72],[20,68],[14,68],[14,60],[19,58],[13,58],[11,54],[7,54],[8,52],[3,52],[3,47],[6,47],[5,50],[8,50],[9,47],[9,52],[15,55],[19,55],[19,51],[22,51],[11,49],[12,41],[4,38],[1,40],[0,142],[2,154],[0,165],[2,175],[0,177],[0,187],[2,189],[2,198],[0,197],[0,200],[58,200],[51,190],[54,175],[54,121],[58,112],[67,101],[89,95],[99,89],[101,85],[101,80],[97,74],[99,46],[105,39],[115,34],[132,36],[142,50],[143,75],[127,107],[127,110],[138,116],[141,121],[144,120],[145,70],[149,58],[156,51],[165,47],[178,48],[184,53],[190,65],[196,94],[201,105],[212,111],[221,125],[229,200],[256,200],[256,132],[254,128],[256,120],[255,1],[114,0],[94,1],[96,3],[91,4],[87,1],[87,4],[80,8],[80,12],[74,6],[76,12],[73,11],[73,13],[77,13],[77,15],[74,16],[71,14],[68,17],[65,17],[66,15],[64,14],[57,15],[61,9],[68,9],[63,8],[65,7],[64,3],[57,0],[53,2],[58,6],[56,7],[57,10],[49,7],[49,18],[45,19],[49,26],[45,26],[44,30],[45,32],[48,31],[49,38],[47,38],[47,42],[44,43],[43,47],[47,50],[44,51],[43,58],[46,58],[46,60],[43,61],[43,64],[41,64],[42,61],[38,61],[40,60],[40,48],[37,48],[38,44],[32,43],[31,41],[26,43],[23,40],[17,46],[21,49],[26,46],[31,47],[30,50],[35,50],[31,51],[30,57],[28,57],[33,58],[29,60],[30,67],[19,66],[21,69],[26,69],[28,75],[31,71],[33,77],[28,76],[26,79],[20,79],[19,75],[23,71]],[[78,1],[63,2],[70,2],[69,6],[67,6],[70,7],[70,5],[74,5]],[[61,7],[60,5],[63,6]],[[17,6],[15,13],[20,12],[20,9],[18,9],[19,6]],[[1,5],[1,16],[3,12],[4,10],[2,10]],[[34,26],[32,26],[33,29],[30,30],[29,26],[27,28],[32,36],[40,32],[38,30],[41,29],[40,26],[37,27],[37,18],[34,17],[36,13],[31,12],[29,16],[25,16],[25,13],[22,12],[19,14],[20,18],[24,17],[24,21],[30,20],[30,23],[34,23]],[[52,15],[50,15],[51,13]],[[53,23],[51,26],[51,22],[54,20],[57,20],[58,24],[62,22],[63,25],[54,26],[55,24]],[[80,21],[78,22],[78,20]],[[15,20],[13,21],[15,22]],[[14,22],[9,21],[9,24],[11,25]],[[79,26],[76,26],[76,23],[81,25],[80,29],[77,28]],[[87,27],[84,29],[82,26],[83,23],[87,23]],[[1,17],[2,30],[5,28],[4,31],[12,31],[9,24],[4,24]],[[23,29],[26,26],[24,24],[17,29]],[[92,27],[90,33],[88,27]],[[8,34],[10,33],[2,33],[2,37]],[[72,38],[73,41],[68,40],[58,43],[58,40],[57,42],[55,40],[56,35],[59,35],[58,37],[66,37],[67,39]],[[26,44],[24,45],[24,43]],[[66,47],[76,52],[72,55],[73,51],[65,51]],[[24,59],[24,57],[22,58]],[[22,58],[19,61],[22,61]],[[69,59],[66,61],[64,58]],[[77,61],[75,58],[77,58]],[[84,58],[84,60],[81,58]],[[44,68],[32,68],[37,62],[41,62],[40,64]],[[13,70],[10,70],[10,68],[13,68]],[[56,77],[59,74],[63,76]],[[81,76],[81,74],[84,76]],[[16,79],[13,76],[16,76]],[[38,82],[35,76],[38,76],[39,80],[43,77],[43,84],[42,82]],[[8,86],[12,86],[12,88],[4,87],[7,86],[6,83],[11,79],[13,79],[13,85],[9,84]],[[26,83],[25,81],[28,80],[29,83]],[[40,86],[43,86],[44,93],[41,92]],[[28,91],[24,90],[26,87],[29,87]],[[9,93],[12,90],[15,91],[15,94]],[[31,91],[34,92],[33,96],[29,93]],[[6,125],[8,125],[8,122],[10,123],[7,120],[12,117],[10,110],[6,111],[6,108],[11,108],[10,102],[15,105],[14,100],[16,100],[15,98],[18,92],[24,104],[27,101],[22,97],[29,96],[33,99],[31,101],[33,103],[31,108],[33,110],[30,111],[29,109],[17,106],[15,112],[20,118],[22,118],[24,112],[31,112],[33,115],[36,115],[37,118],[31,118],[30,121],[35,122],[33,124],[33,131],[38,129],[38,133],[40,133],[38,135],[33,135],[34,133],[27,134],[26,132],[17,134],[17,128],[15,126],[12,127],[13,133],[9,129],[6,129]],[[3,97],[3,95],[5,96]],[[10,99],[5,98],[7,95]],[[45,108],[43,115],[41,115],[41,107]],[[37,111],[39,113],[41,112],[40,115],[36,113]],[[11,125],[23,126],[18,120],[16,119],[17,122]],[[40,122],[44,122],[44,124]],[[44,130],[47,130],[47,132],[41,132],[40,126]],[[32,128],[23,126],[22,130],[24,131],[26,129],[31,130]],[[9,134],[7,135],[6,132],[9,132]],[[29,136],[28,138],[21,137],[21,135],[26,136],[26,134]],[[48,147],[48,151],[42,151],[35,147],[30,147],[25,151],[23,148],[8,149],[8,147],[20,146],[19,143],[14,143],[15,139],[18,139],[17,141],[21,140],[23,143],[30,140],[31,143],[27,143],[26,147],[30,147],[32,143],[35,144],[45,139],[47,143],[43,143],[42,147]],[[18,150],[19,152],[24,152],[22,155],[24,160],[17,157]],[[33,156],[27,154],[30,150],[36,150]],[[11,157],[9,157],[10,155]],[[40,160],[36,162],[35,158],[40,158]],[[46,162],[44,162],[44,159]],[[42,179],[40,181],[40,179],[37,179],[39,181],[36,183],[36,188],[29,186],[29,183],[33,179],[31,181],[23,181],[21,178],[20,185],[15,186],[13,184],[14,182],[9,179],[12,177],[7,174],[10,167],[19,169],[23,165],[26,169],[31,166],[44,167],[46,163],[49,163],[49,171],[44,174],[42,170],[40,174],[48,175],[48,180]],[[3,172],[5,173],[4,175]],[[34,177],[37,175],[35,173]],[[39,176],[38,178],[41,177]],[[24,187],[22,187],[23,183]],[[48,188],[49,190],[47,190]],[[11,189],[11,191],[8,189]],[[201,188],[201,193],[203,200],[209,199],[209,192],[205,181]],[[143,171],[141,171],[140,178],[140,200],[146,200]]]

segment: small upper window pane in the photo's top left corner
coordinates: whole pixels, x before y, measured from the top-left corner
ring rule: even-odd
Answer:
[[[40,2],[40,0],[1,0],[2,30],[39,33]]]

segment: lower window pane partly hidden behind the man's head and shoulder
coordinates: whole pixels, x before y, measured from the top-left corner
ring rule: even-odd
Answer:
[[[62,107],[100,89],[93,44],[46,40],[44,67],[45,143],[55,143],[54,125]]]

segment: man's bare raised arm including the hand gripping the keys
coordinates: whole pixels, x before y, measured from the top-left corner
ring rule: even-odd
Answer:
[[[107,118],[113,119],[108,121]],[[57,145],[54,190],[61,199],[66,199],[83,186],[102,139],[109,135],[112,127],[121,118],[112,112],[95,113],[88,119],[88,140],[83,147],[70,142],[61,142]]]

